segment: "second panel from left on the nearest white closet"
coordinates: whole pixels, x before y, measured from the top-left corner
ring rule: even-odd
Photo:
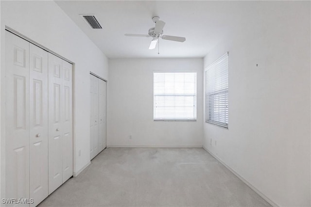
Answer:
[[[48,52],[30,44],[30,198],[48,196]]]

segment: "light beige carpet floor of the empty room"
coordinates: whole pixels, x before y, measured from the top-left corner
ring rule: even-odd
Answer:
[[[203,148],[107,148],[40,207],[266,207]]]

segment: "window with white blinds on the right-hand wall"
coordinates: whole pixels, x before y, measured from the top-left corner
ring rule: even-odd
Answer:
[[[228,53],[205,72],[206,122],[228,128]]]

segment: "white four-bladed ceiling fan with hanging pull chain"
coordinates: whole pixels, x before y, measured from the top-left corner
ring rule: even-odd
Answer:
[[[125,36],[131,36],[131,37],[152,37],[153,40],[150,43],[149,49],[154,49],[156,46],[156,43],[161,37],[164,40],[172,40],[176,42],[185,42],[185,37],[177,37],[177,36],[170,36],[170,35],[163,35],[163,28],[165,25],[165,22],[162,20],[159,20],[160,17],[154,16],[152,17],[152,20],[155,23],[155,27],[152,27],[149,29],[148,34],[124,34]]]

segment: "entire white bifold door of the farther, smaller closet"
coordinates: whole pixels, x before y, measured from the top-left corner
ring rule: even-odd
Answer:
[[[90,159],[106,147],[106,82],[90,74]]]

